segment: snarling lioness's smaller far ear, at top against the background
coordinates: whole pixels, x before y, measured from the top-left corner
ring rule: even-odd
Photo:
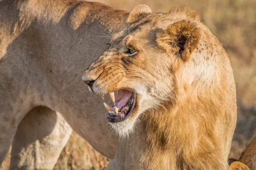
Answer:
[[[140,20],[141,18],[147,16],[151,12],[152,12],[151,9],[146,5],[135,6],[131,10],[126,22],[127,23],[134,23],[135,21]]]

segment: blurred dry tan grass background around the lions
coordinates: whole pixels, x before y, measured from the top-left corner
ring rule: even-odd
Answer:
[[[94,0],[93,0],[94,1]],[[139,4],[153,12],[168,12],[186,4],[197,8],[201,21],[219,39],[230,58],[237,90],[238,121],[230,158],[239,159],[256,136],[256,0],[97,0],[130,11]],[[72,133],[55,170],[101,170],[109,159],[100,155],[80,136]],[[2,164],[8,170],[10,153]]]

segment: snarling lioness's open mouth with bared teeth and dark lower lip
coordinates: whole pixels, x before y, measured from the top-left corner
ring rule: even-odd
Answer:
[[[109,93],[109,96],[114,104],[111,107],[104,103],[108,110],[108,122],[122,122],[127,119],[134,110],[136,93],[131,89],[119,89],[115,93]]]

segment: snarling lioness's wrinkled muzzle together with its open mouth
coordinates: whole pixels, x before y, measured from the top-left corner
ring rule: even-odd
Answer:
[[[105,54],[110,54],[106,53]],[[108,122],[122,122],[138,107],[136,91],[131,85],[136,71],[128,68],[128,64],[120,55],[103,55],[93,62],[84,72],[83,81],[89,90],[99,94],[104,99],[109,94],[112,106],[104,103],[108,111]],[[136,77],[134,78],[136,79]]]

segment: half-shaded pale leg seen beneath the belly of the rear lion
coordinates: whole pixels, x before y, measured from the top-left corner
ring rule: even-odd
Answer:
[[[33,108],[17,127],[10,169],[52,169],[71,132],[60,113],[43,106]]]

